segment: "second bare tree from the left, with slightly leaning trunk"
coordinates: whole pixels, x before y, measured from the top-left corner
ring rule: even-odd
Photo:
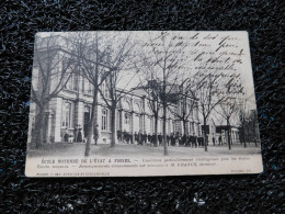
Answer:
[[[88,137],[84,156],[90,155],[90,145],[98,124],[98,94],[100,86],[106,80],[113,68],[107,66],[107,56],[110,52],[110,42],[114,36],[104,32],[76,33],[71,36],[73,41],[75,53],[77,56],[82,76],[93,86],[93,101],[91,117],[88,125]]]

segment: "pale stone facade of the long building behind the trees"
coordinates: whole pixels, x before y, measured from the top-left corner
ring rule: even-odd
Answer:
[[[45,142],[64,142],[64,134],[69,133],[69,140],[72,142],[75,128],[81,128],[83,138],[87,137],[88,121],[91,116],[93,99],[93,87],[82,77],[75,76],[70,82],[53,98],[46,108],[46,124],[44,132]],[[75,87],[76,86],[76,87]],[[103,85],[102,85],[103,87]],[[197,102],[189,99],[189,102]],[[135,134],[138,132],[155,134],[155,119],[148,99],[139,90],[126,92],[117,104],[116,110],[116,131]],[[194,109],[186,122],[187,131],[183,129],[183,121],[171,112],[178,112],[180,103],[171,104],[172,111],[167,114],[167,133],[189,133],[201,135],[198,111]],[[36,113],[35,103],[31,102],[31,126]],[[106,108],[104,100],[99,93],[98,124],[100,131],[100,142],[109,143],[111,137],[111,112]],[[33,128],[32,128],[33,129]],[[162,133],[162,110],[158,120],[158,133]],[[32,134],[32,132],[31,132]]]

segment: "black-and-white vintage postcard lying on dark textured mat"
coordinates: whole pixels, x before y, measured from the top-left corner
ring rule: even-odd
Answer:
[[[263,171],[248,33],[37,33],[27,177]]]

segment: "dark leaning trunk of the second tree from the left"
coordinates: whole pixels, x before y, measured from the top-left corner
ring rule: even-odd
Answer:
[[[98,123],[98,86],[94,87],[92,112],[91,112],[91,119],[90,119],[89,125],[88,125],[89,129],[88,129],[84,156],[90,156],[90,145],[91,145],[91,142],[92,142],[94,124],[96,124],[96,123]]]

